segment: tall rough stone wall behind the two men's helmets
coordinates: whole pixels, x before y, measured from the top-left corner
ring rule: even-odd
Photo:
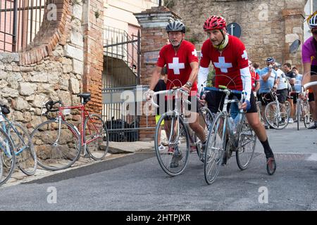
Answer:
[[[290,54],[294,39],[303,41],[304,6],[306,0],[179,0],[171,8],[189,28],[187,39],[197,39],[197,49],[206,39],[202,26],[210,15],[222,15],[228,23],[242,29],[249,59],[262,66],[269,56],[301,68],[300,49]]]

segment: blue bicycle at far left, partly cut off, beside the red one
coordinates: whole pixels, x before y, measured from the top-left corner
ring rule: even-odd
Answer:
[[[15,161],[18,168],[26,175],[35,174],[37,169],[37,157],[27,129],[17,122],[11,122],[6,117],[10,110],[5,105],[2,105],[0,112],[1,129],[3,129],[13,143]],[[6,111],[4,113],[4,110]],[[11,152],[4,150],[2,153],[3,167],[10,167]]]

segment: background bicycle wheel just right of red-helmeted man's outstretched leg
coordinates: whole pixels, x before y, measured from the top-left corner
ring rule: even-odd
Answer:
[[[264,117],[266,118],[266,122],[268,122],[271,127],[275,129],[284,129],[288,124],[290,115],[287,113],[287,108],[285,105],[282,103],[278,103],[277,105],[276,102],[273,101],[266,105]]]

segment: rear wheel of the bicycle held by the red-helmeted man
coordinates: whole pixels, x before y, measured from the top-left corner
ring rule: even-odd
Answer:
[[[249,162],[254,154],[255,146],[256,134],[247,122],[247,117],[244,117],[244,121],[242,122],[242,130],[239,135],[238,149],[235,152],[237,165],[241,170],[247,169],[249,166]]]

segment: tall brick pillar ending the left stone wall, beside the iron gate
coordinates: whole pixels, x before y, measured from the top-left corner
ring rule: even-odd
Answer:
[[[82,89],[92,94],[87,104],[89,110],[101,114],[101,75],[104,64],[104,2],[87,0],[83,7],[84,14],[84,76]]]

